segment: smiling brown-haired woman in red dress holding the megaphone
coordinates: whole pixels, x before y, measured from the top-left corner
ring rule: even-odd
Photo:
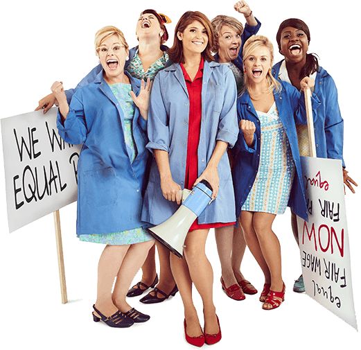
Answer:
[[[184,304],[184,331],[190,344],[221,338],[213,304],[213,271],[205,243],[211,227],[234,225],[234,191],[227,148],[238,135],[236,82],[228,67],[213,62],[213,28],[201,12],[188,11],[175,28],[170,67],[155,77],[150,98],[147,148],[155,156],[142,220],[159,225],[177,211],[179,190],[202,180],[213,201],[188,231],[184,259],[171,254],[173,276]],[[204,329],[192,300],[192,283],[203,301]]]

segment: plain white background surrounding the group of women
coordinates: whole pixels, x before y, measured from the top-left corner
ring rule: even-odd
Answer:
[[[179,16],[186,10],[201,10],[209,18],[218,14],[243,16],[233,10],[233,1],[11,1],[0,9],[0,117],[30,112],[37,100],[49,94],[54,80],[74,87],[94,65],[94,33],[105,25],[115,25],[125,33],[130,46],[137,44],[135,27],[141,10],[164,12],[170,40]],[[360,23],[351,1],[279,0],[249,3],[262,22],[259,33],[269,36],[276,46],[276,30],[283,19],[298,17],[310,27],[310,52],[333,76],[339,91],[345,120],[344,158],[351,176],[360,174]],[[277,50],[276,50],[277,51]],[[280,55],[276,55],[276,60]],[[0,146],[1,147],[1,146]],[[1,152],[2,153],[2,152]],[[2,349],[152,349],[184,348],[183,308],[179,295],[162,304],[132,306],[151,315],[146,324],[131,329],[111,329],[91,320],[96,297],[96,268],[102,247],[80,243],[76,238],[76,205],[60,211],[69,303],[60,303],[58,265],[53,216],[8,233],[6,195],[0,164],[0,314]],[[360,191],[347,193],[351,268],[356,313],[361,315]],[[299,253],[292,238],[290,214],[276,218],[274,231],[281,240],[283,279],[287,286],[285,303],[278,310],[261,310],[258,296],[245,301],[227,298],[220,288],[220,264],[213,232],[207,254],[213,265],[215,306],[222,326],[222,341],[214,349],[360,349],[361,337],[351,326],[319,306],[306,295],[292,292],[299,276]],[[263,277],[247,251],[243,262],[245,277],[258,290]],[[138,280],[139,276],[136,277]],[[197,293],[195,293],[197,295]],[[197,308],[202,306],[196,296]],[[5,344],[5,347],[3,345]]]

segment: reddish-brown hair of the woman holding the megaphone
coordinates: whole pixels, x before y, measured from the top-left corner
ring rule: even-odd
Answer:
[[[204,26],[204,28],[206,28],[208,44],[206,49],[204,49],[202,52],[204,60],[208,62],[214,61],[213,55],[211,53],[211,49],[214,45],[214,33],[211,21],[209,21],[206,15],[204,15],[202,12],[187,11],[182,15],[182,17],[180,17],[177,26],[175,26],[173,46],[168,51],[170,60],[175,63],[184,62],[182,40],[179,40],[177,33],[183,33],[186,27],[189,26],[189,24],[191,24],[193,21],[199,21]]]

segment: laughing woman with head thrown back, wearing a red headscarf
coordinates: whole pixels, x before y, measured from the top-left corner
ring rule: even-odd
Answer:
[[[129,56],[125,61],[125,71],[134,78],[153,80],[159,70],[170,64],[167,53],[168,47],[164,45],[168,40],[167,23],[170,23],[170,19],[166,15],[152,9],[144,10],[139,15],[136,29],[139,45],[129,50]],[[66,90],[65,94],[68,103],[70,103],[76,89],[94,82],[102,69],[101,64],[98,64],[78,83],[75,89]],[[46,113],[53,106],[55,100],[55,96],[49,94],[39,101],[36,110],[43,108],[44,113]],[[170,295],[175,295],[177,292],[177,286],[175,286],[173,274],[170,270],[169,252],[165,247],[158,244],[157,250],[161,267],[160,279],[158,279],[156,271],[155,246],[153,246],[142,266],[143,275],[141,281],[132,286],[127,293],[128,297],[142,295],[148,288],[156,287],[155,290],[150,291],[148,295],[141,298],[143,303],[154,304],[168,299]]]

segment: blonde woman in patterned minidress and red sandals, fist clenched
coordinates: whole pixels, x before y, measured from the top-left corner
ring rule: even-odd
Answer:
[[[265,275],[260,297],[265,310],[279,307],[285,294],[274,218],[288,205],[307,218],[295,125],[306,123],[303,96],[272,77],[272,63],[271,42],[261,35],[250,37],[243,49],[246,91],[237,103],[241,132],[233,168],[236,213]],[[302,90],[311,86],[310,78],[301,81]],[[319,101],[312,103],[317,107]]]

